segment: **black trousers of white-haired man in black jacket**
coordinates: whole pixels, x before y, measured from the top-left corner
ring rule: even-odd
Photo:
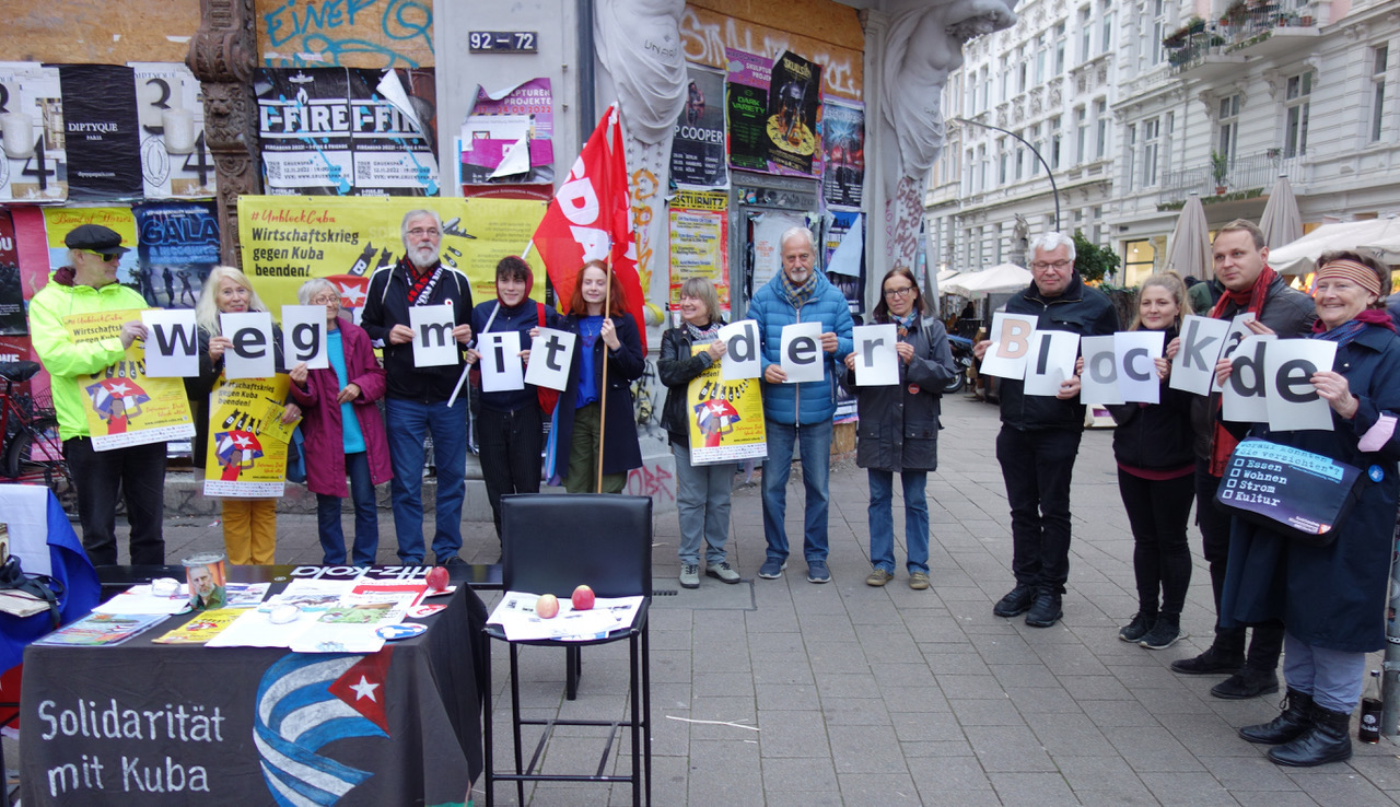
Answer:
[[[1070,579],[1070,478],[1079,429],[1001,427],[997,462],[1011,504],[1016,583],[1064,593]]]

